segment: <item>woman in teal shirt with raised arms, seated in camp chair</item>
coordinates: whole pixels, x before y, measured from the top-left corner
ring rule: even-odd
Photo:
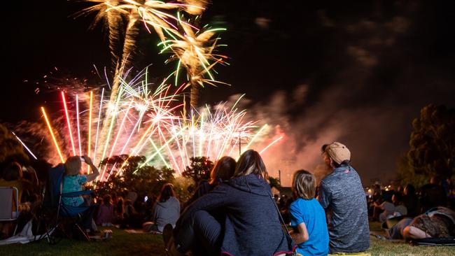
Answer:
[[[69,192],[78,192],[83,190],[83,185],[88,183],[97,176],[99,176],[99,171],[96,166],[92,163],[90,157],[82,157],[84,162],[90,166],[92,173],[88,175],[80,175],[81,167],[81,157],[74,156],[68,157],[65,162],[65,176],[63,181],[62,194]],[[90,206],[90,201],[84,201],[82,196],[78,197],[62,197],[63,204],[67,206]],[[85,231],[92,231],[92,220],[93,220],[94,208],[88,208],[83,215],[83,228]]]

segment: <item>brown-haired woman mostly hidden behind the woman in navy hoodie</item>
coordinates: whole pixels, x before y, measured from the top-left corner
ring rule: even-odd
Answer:
[[[221,157],[218,159],[214,168],[211,169],[209,182],[202,181],[197,187],[195,194],[193,194],[193,197],[183,204],[183,210],[192,204],[193,201],[196,201],[196,199],[213,190],[219,183],[229,180],[234,175],[235,164],[235,159],[232,157]]]

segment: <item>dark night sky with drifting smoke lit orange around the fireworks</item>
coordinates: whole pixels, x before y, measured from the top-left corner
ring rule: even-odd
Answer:
[[[93,15],[69,17],[84,3],[10,4],[3,17],[2,122],[38,121],[38,107],[58,101],[43,86],[50,71],[102,83],[92,71],[111,67],[107,38],[101,27],[88,30]],[[201,102],[245,93],[251,118],[286,134],[264,155],[272,176],[281,169],[286,180],[291,171],[314,169],[321,145],[340,141],[363,183],[386,182],[395,177],[420,108],[455,106],[454,13],[455,1],[214,0],[202,23],[228,29],[221,34],[228,48],[220,51],[230,66],[218,68],[217,78],[232,86],[208,87]],[[174,65],[158,56],[158,42],[142,33],[134,64],[151,64],[162,78]]]

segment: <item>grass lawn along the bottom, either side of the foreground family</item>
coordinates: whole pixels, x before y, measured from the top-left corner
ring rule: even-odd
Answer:
[[[104,228],[100,228],[102,230]],[[161,255],[162,238],[155,234],[129,234],[123,229],[109,228],[113,236],[107,241],[74,241],[62,239],[57,245],[41,243],[0,246],[0,255]],[[372,231],[380,232],[377,222],[370,223]],[[453,246],[409,246],[404,242],[382,241],[370,236],[371,255],[455,255]]]

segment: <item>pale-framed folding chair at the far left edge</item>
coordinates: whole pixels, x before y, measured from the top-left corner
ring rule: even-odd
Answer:
[[[18,220],[19,191],[17,187],[0,187],[0,222]],[[17,225],[16,228],[17,229]],[[15,234],[16,230],[14,230]]]

